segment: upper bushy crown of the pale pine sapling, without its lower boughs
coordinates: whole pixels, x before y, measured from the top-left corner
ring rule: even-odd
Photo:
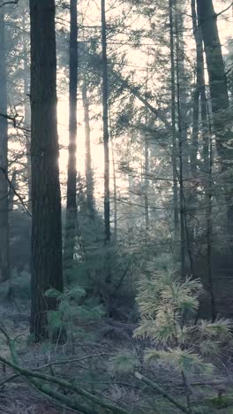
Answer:
[[[184,341],[184,316],[197,310],[201,288],[199,280],[182,282],[168,263],[162,266],[160,259],[159,270],[153,276],[148,272],[142,277],[137,297],[141,322],[135,337],[148,337],[163,344]]]

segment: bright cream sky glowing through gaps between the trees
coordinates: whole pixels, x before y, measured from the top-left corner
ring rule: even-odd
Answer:
[[[83,14],[85,15],[86,21],[85,25],[89,26],[97,26],[101,25],[100,22],[100,8],[99,4],[100,2],[95,2],[93,0],[90,0],[88,2],[82,1],[79,3],[79,7],[82,8]],[[227,2],[225,4],[222,4],[221,1],[216,0],[214,1],[214,8],[216,12],[221,12],[230,2]],[[111,2],[112,4],[112,2]],[[119,4],[117,6],[117,4]],[[122,11],[123,11],[124,4],[122,2],[117,3],[115,2],[115,8],[113,11],[110,11],[107,13],[107,19],[110,19],[112,16],[115,15],[115,17],[121,17]],[[107,4],[107,10],[109,10],[109,5]],[[188,11],[188,14],[190,14],[191,11]],[[233,27],[233,14],[232,10],[230,9],[229,12],[226,12],[222,14],[222,16],[218,19],[218,26],[219,26],[219,33],[222,40],[222,45],[224,45],[224,42],[226,41],[226,38],[231,35],[232,27]],[[226,19],[228,18],[228,19]],[[132,15],[131,19],[134,19],[134,15]],[[188,21],[188,20],[187,20]],[[130,22],[130,20],[129,20]],[[137,19],[136,25],[133,25],[133,28],[139,28],[143,27],[147,24],[146,21],[143,21],[142,18]],[[189,27],[192,34],[192,20],[189,19]],[[115,40],[122,40],[125,39],[125,36],[123,35],[117,35]],[[191,41],[191,38],[189,39],[189,42]],[[109,45],[109,50],[112,50],[114,48],[113,43],[114,40],[111,39],[111,44]],[[191,42],[192,44],[192,42]],[[193,43],[194,44],[194,43]],[[193,46],[191,46],[193,47]],[[129,62],[132,63],[132,65],[138,65],[139,66],[139,72],[138,76],[140,76],[140,67],[142,71],[144,70],[144,67],[146,68],[147,65],[147,58],[145,55],[140,54],[138,50],[132,49],[127,46],[121,46],[119,47],[119,53],[124,52],[124,50],[127,50],[127,57]],[[223,52],[225,52],[223,47]],[[154,52],[153,52],[154,53]],[[139,58],[140,57],[140,58]],[[91,107],[90,108],[92,113],[98,113],[101,111],[101,107]],[[58,131],[59,131],[59,138],[60,143],[64,146],[67,146],[68,144],[68,93],[63,96],[59,96],[58,101]],[[79,111],[78,111],[78,119],[79,119],[79,130],[78,130],[78,152],[77,152],[77,165],[78,170],[81,174],[84,173],[84,155],[85,155],[85,134],[84,134],[84,123],[83,123],[83,110],[82,110],[82,104],[81,100],[79,99]],[[101,123],[92,123],[92,157],[93,157],[93,165],[95,170],[95,180],[96,185],[95,188],[97,189],[97,192],[102,193],[102,178],[103,178],[103,149],[102,145],[99,144],[99,140],[101,139]],[[62,180],[65,179],[66,174],[66,166],[67,166],[67,149],[62,149],[60,153],[60,168],[61,168],[61,177]]]

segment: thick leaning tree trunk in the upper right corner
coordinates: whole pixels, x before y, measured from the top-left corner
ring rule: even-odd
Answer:
[[[212,0],[197,0],[199,26],[202,30],[214,118],[214,134],[222,165],[222,184],[226,194],[229,237],[233,235],[232,203],[232,133],[230,131],[229,96],[218,34],[217,15]]]

